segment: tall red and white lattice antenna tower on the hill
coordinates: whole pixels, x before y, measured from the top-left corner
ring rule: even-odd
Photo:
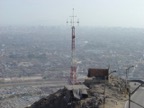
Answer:
[[[76,54],[75,54],[75,23],[79,23],[79,21],[75,22],[75,15],[74,15],[74,8],[73,14],[71,17],[71,29],[72,29],[72,42],[71,42],[71,72],[70,72],[70,84],[76,84],[77,82],[77,61],[76,61]],[[68,23],[68,21],[67,21]]]

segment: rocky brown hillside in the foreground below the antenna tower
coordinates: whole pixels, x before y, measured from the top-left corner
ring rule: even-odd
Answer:
[[[111,77],[110,82],[90,84],[87,96],[76,99],[72,94],[67,97],[67,89],[35,102],[27,108],[123,108],[127,99],[125,81]]]

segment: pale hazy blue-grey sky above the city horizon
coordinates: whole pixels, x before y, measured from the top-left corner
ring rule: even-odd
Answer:
[[[81,26],[144,28],[144,0],[0,0],[0,25],[66,25],[72,8]]]

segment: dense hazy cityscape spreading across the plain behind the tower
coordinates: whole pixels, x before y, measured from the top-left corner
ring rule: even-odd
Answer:
[[[144,77],[144,35],[138,28],[76,27],[78,79],[88,68],[110,68],[125,77]],[[71,66],[69,27],[0,27],[0,107],[23,108],[60,87],[47,87],[47,81],[67,83]],[[134,76],[134,77],[133,77]],[[35,81],[44,86],[17,86],[11,83]],[[6,83],[8,86],[3,86]],[[9,103],[9,104],[7,104]],[[21,106],[22,105],[22,106]]]

